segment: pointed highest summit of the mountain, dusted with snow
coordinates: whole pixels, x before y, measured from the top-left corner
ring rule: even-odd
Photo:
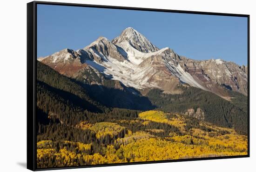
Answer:
[[[113,39],[112,43],[120,47],[122,47],[125,44],[129,44],[136,50],[146,53],[155,52],[159,50],[145,36],[143,36],[140,32],[136,31],[132,27],[128,27],[125,30],[123,30],[120,36]]]

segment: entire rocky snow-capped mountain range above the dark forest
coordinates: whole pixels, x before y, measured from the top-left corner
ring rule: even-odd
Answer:
[[[158,49],[132,27],[112,41],[100,37],[83,49],[65,49],[39,60],[69,77],[77,77],[79,70],[90,66],[135,89],[159,88],[179,93],[178,86],[185,84],[222,97],[223,88],[247,95],[244,67],[220,59],[198,61],[180,57],[168,47]]]

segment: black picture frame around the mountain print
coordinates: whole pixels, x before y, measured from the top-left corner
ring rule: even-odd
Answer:
[[[52,167],[52,168],[37,168],[36,165],[36,61],[37,61],[37,5],[58,5],[58,6],[81,6],[81,7],[97,7],[110,9],[125,9],[125,10],[139,10],[139,11],[154,11],[154,12],[169,12],[169,13],[189,13],[202,15],[220,15],[220,16],[236,16],[246,17],[248,20],[248,154],[239,156],[225,156],[225,157],[209,157],[209,158],[195,158],[195,159],[173,159],[173,160],[159,160],[146,162],[131,162],[118,164],[103,164],[103,165],[89,165],[89,166],[67,166],[67,167]],[[101,167],[101,166],[122,166],[135,164],[150,164],[150,163],[164,163],[164,162],[178,162],[178,161],[195,161],[195,160],[209,160],[209,159],[230,159],[230,158],[246,158],[250,155],[249,149],[249,78],[250,78],[250,63],[249,63],[249,15],[248,14],[231,14],[231,13],[209,13],[196,11],[180,11],[168,9],[153,9],[153,8],[139,8],[139,7],[125,7],[125,6],[103,6],[103,5],[88,5],[88,4],[73,4],[73,3],[59,3],[59,2],[45,2],[33,1],[27,3],[27,169],[32,171],[41,170],[56,170],[56,169],[71,169],[84,167]]]

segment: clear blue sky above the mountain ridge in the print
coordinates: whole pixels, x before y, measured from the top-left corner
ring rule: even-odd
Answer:
[[[100,36],[112,40],[127,27],[181,56],[247,65],[245,17],[53,5],[37,8],[37,57],[65,48],[78,50]]]

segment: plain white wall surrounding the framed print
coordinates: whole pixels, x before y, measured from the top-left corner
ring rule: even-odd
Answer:
[[[67,171],[83,172],[241,172],[255,167],[256,11],[253,0],[60,0],[61,2],[133,6],[218,13],[250,14],[250,146],[251,157],[148,165],[113,166]],[[28,0],[0,1],[0,171],[26,168],[26,15]],[[254,99],[254,100],[253,100]],[[254,162],[254,163],[253,163]],[[62,170],[63,171],[63,170]],[[249,170],[252,171],[252,170]]]

